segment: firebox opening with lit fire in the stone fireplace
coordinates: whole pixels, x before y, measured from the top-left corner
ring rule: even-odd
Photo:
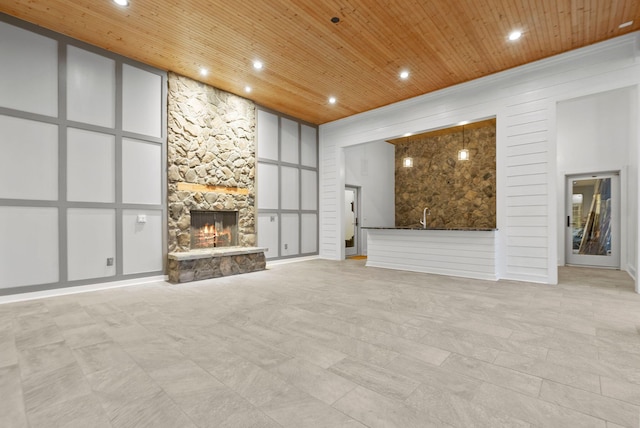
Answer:
[[[191,249],[238,245],[238,211],[191,211]]]

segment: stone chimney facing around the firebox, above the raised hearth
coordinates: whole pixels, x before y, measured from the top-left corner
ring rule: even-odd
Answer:
[[[190,210],[238,210],[238,244],[254,246],[255,104],[174,73],[168,81],[169,252],[190,250]]]

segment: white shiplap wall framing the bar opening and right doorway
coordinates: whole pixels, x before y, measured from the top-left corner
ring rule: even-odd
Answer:
[[[640,84],[640,33],[632,33],[320,126],[320,255],[344,257],[346,147],[445,128],[463,120],[497,118],[496,245],[499,278],[556,283],[558,144],[556,105],[563,100]],[[637,93],[637,92],[636,92]],[[637,99],[637,95],[636,95]],[[638,122],[637,100],[632,115]],[[630,141],[638,145],[638,132]],[[602,145],[619,144],[602,141]],[[629,171],[638,152],[628,150]],[[635,175],[637,177],[637,174]],[[633,195],[638,183],[630,182]],[[628,194],[629,192],[627,192]],[[629,198],[630,205],[636,198]],[[630,219],[629,216],[634,218]],[[628,206],[627,236],[637,236],[637,210]],[[623,232],[624,233],[624,232]],[[638,243],[634,243],[637,249]],[[637,251],[627,260],[637,269]],[[623,268],[625,268],[623,266]]]

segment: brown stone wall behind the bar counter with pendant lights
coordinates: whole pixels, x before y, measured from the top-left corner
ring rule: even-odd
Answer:
[[[465,127],[470,160],[459,161],[462,128],[438,132],[417,141],[395,143],[396,226],[419,224],[431,210],[429,227],[496,227],[496,126]],[[402,159],[413,158],[413,167]]]

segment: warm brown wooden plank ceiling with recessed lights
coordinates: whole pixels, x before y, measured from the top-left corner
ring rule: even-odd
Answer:
[[[2,0],[0,11],[315,124],[640,29],[638,0],[130,2]]]

